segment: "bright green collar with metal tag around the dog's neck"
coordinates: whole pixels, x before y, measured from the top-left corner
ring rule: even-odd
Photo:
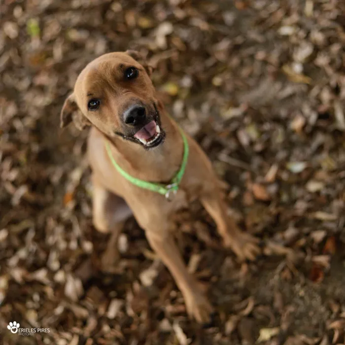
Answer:
[[[125,177],[128,181],[130,181],[134,185],[136,185],[136,186],[138,186],[140,188],[148,189],[148,190],[150,190],[152,192],[156,192],[156,193],[162,194],[169,201],[171,201],[172,200],[171,199],[171,194],[173,193],[173,195],[175,195],[177,193],[177,190],[179,188],[182,176],[184,174],[184,171],[186,170],[186,165],[187,165],[187,161],[188,161],[188,154],[189,154],[189,146],[188,146],[187,138],[184,135],[184,133],[182,132],[182,130],[181,129],[179,129],[179,130],[180,130],[180,133],[181,133],[181,137],[183,139],[183,158],[182,158],[182,163],[181,163],[180,169],[174,175],[174,177],[171,180],[170,184],[167,184],[167,185],[162,184],[162,183],[148,182],[148,181],[140,180],[139,178],[131,176],[129,173],[126,173],[115,162],[115,159],[114,159],[114,157],[111,154],[110,145],[109,145],[108,141],[105,142],[105,148],[106,148],[106,151],[108,153],[108,156],[110,158],[110,161],[111,161],[112,165],[115,167],[115,169],[123,177]]]

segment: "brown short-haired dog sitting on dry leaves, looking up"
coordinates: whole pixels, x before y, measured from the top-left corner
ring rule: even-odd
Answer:
[[[191,276],[174,242],[173,213],[199,199],[214,219],[225,246],[241,259],[254,259],[256,239],[243,233],[227,214],[217,177],[197,142],[186,135],[189,157],[172,201],[134,185],[121,175],[112,159],[128,174],[169,184],[180,169],[184,144],[177,124],[157,100],[151,70],[134,51],[105,54],[79,74],[74,92],[61,112],[61,127],[72,120],[80,129],[91,125],[88,158],[92,167],[93,223],[113,231],[116,241],[124,221],[134,215],[146,238],[173,275],[189,315],[207,322],[212,310]],[[109,152],[105,144],[109,147]]]

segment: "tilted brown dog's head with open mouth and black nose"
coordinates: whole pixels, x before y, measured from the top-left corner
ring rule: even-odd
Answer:
[[[158,146],[161,128],[151,68],[135,51],[104,54],[79,74],[61,111],[61,127],[94,125],[107,137],[121,136],[145,148]]]

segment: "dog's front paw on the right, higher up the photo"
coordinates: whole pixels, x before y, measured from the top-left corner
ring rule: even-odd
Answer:
[[[258,243],[259,239],[256,237],[239,231],[236,236],[226,239],[224,244],[231,248],[241,261],[253,261],[261,253]]]

